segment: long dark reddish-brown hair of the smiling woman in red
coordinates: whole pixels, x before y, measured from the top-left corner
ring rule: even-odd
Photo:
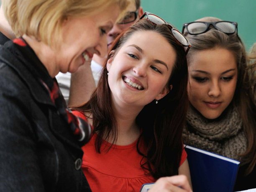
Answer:
[[[102,140],[113,141],[118,135],[118,123],[111,104],[111,90],[108,85],[108,59],[117,54],[120,47],[137,31],[154,31],[161,34],[176,52],[176,61],[166,87],[169,93],[156,105],[154,101],[147,104],[136,117],[136,123],[141,128],[137,142],[137,151],[141,154],[141,167],[147,169],[155,179],[178,174],[182,156],[182,129],[188,109],[188,68],[184,47],[177,43],[166,25],[153,25],[143,19],[123,31],[113,43],[97,89],[90,100],[75,110],[92,113],[94,133],[98,137],[95,148],[100,153]],[[170,85],[173,86],[170,90]],[[140,151],[139,143],[146,144],[146,154]],[[148,168],[146,168],[148,165]]]

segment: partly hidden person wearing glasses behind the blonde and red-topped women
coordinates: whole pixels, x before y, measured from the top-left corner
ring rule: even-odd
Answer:
[[[108,49],[110,49],[115,38],[120,32],[131,26],[144,13],[140,6],[141,0],[131,0],[123,17],[115,23],[107,34]],[[106,55],[93,55],[93,58],[85,63],[83,67],[72,75],[70,73],[59,73],[56,79],[59,83],[64,99],[70,106],[80,105],[90,99],[92,91],[95,90]],[[89,70],[88,70],[89,69]],[[82,97],[80,97],[82,96]]]

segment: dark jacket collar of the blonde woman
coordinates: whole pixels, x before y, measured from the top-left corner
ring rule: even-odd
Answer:
[[[0,46],[0,52],[0,61],[5,62],[19,74],[28,85],[33,97],[38,102],[54,106],[49,92],[42,85],[40,79],[46,84],[53,84],[54,80],[34,51],[29,46],[24,51],[20,45],[8,41],[4,46]]]

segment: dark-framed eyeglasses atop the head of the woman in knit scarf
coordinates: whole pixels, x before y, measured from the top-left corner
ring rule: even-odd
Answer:
[[[201,22],[195,21],[190,23],[184,23],[182,28],[182,33],[184,34],[184,29],[187,29],[187,32],[190,35],[198,35],[205,33],[208,28],[212,25],[218,31],[221,31],[226,34],[233,34],[237,30],[237,23],[232,21],[221,20],[217,22]]]

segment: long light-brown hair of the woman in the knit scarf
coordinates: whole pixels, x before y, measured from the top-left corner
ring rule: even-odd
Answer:
[[[220,21],[220,19],[205,17],[196,21],[216,22]],[[192,44],[188,54],[188,61],[190,60],[189,58],[192,58],[195,52],[214,48],[227,49],[233,53],[236,58],[238,79],[231,105],[233,105],[242,118],[243,130],[248,140],[246,152],[244,154],[238,154],[249,157],[249,160],[246,162],[249,163],[249,166],[245,172],[247,175],[253,170],[256,164],[256,105],[253,102],[253,94],[251,90],[253,86],[253,81],[251,78],[254,74],[250,74],[250,71],[248,70],[249,68],[246,61],[246,51],[243,42],[241,41],[241,38],[238,36],[237,32],[227,35],[216,30],[212,26],[210,26],[210,30],[206,33],[189,35],[187,31],[185,31],[184,35]]]

